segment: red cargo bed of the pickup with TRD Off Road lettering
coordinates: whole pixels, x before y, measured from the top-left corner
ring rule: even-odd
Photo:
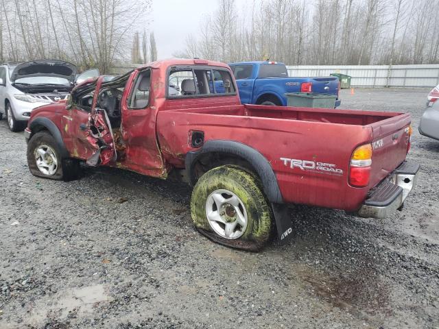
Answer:
[[[205,130],[209,126],[205,141],[238,141],[265,156],[276,174],[285,202],[355,211],[368,191],[405,160],[410,114],[211,105],[209,108],[163,111],[157,120],[163,154],[177,167],[174,155],[186,154],[192,149],[189,145],[174,145],[167,141],[187,140],[188,130]],[[166,129],[169,125],[183,129]],[[356,147],[366,143],[375,145],[370,183],[365,188],[355,188],[348,184],[351,154]],[[342,174],[292,169],[281,158],[334,164]],[[180,167],[184,167],[183,161]]]

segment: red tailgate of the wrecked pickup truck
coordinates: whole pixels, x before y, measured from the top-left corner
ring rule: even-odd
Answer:
[[[398,167],[407,156],[410,114],[372,123],[372,172],[370,187],[377,185]]]

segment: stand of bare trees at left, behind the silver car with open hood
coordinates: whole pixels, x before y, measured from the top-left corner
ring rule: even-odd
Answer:
[[[102,73],[129,60],[151,0],[0,0],[0,59],[61,58]],[[8,47],[6,47],[8,45]]]

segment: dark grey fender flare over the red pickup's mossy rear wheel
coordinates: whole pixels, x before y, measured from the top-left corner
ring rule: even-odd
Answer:
[[[206,141],[201,149],[198,151],[189,151],[185,158],[185,167],[189,183],[195,185],[195,175],[193,175],[194,165],[200,156],[213,153],[222,152],[237,156],[249,162],[256,171],[263,185],[263,191],[272,203],[283,204],[281,190],[277,184],[276,175],[270,165],[270,162],[259,153],[256,149],[235,141]]]

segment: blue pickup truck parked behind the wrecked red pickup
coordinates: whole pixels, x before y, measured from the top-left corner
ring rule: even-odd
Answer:
[[[336,95],[335,108],[340,106],[337,77],[288,77],[280,62],[239,62],[228,64],[232,69],[243,104],[287,106],[285,93],[319,93]]]

